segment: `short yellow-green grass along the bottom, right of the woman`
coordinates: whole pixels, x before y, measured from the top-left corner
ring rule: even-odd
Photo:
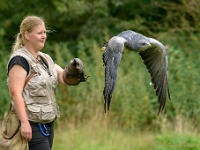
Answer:
[[[53,150],[199,150],[194,133],[126,132],[105,122],[89,121],[56,128]]]

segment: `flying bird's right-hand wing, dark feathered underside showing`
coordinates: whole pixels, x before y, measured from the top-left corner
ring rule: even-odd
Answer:
[[[149,42],[152,47],[139,52],[139,55],[151,75],[156,96],[158,97],[158,103],[160,104],[159,114],[165,107],[167,93],[170,99],[168,88],[168,59],[166,48],[162,43],[152,38],[149,38]]]

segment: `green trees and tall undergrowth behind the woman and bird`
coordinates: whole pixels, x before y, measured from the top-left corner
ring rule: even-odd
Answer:
[[[17,6],[17,7],[16,7]],[[89,82],[59,85],[62,119],[75,125],[102,119],[104,66],[101,44],[123,30],[158,39],[168,47],[170,102],[157,116],[158,103],[150,75],[137,53],[125,51],[107,117],[124,130],[165,131],[184,127],[199,131],[199,0],[50,0],[0,1],[0,116],[9,106],[6,64],[12,43],[26,15],[45,18],[49,33],[44,52],[65,67],[74,57],[85,64]],[[132,70],[130,70],[130,68]],[[166,123],[167,122],[167,123]],[[185,130],[185,128],[181,128]]]

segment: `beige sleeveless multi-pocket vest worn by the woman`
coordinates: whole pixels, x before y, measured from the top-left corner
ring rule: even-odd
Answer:
[[[59,107],[56,102],[57,72],[51,57],[39,52],[39,56],[48,64],[49,74],[45,67],[24,47],[15,51],[11,55],[10,60],[14,56],[22,56],[27,60],[29,64],[27,78],[31,72],[35,72],[35,75],[30,79],[22,93],[29,120],[48,123],[56,117],[60,117]]]

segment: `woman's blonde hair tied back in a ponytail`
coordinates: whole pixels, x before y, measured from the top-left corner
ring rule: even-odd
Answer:
[[[20,24],[20,32],[17,34],[15,43],[13,45],[13,51],[18,50],[20,47],[24,46],[25,38],[24,33],[26,31],[31,32],[36,26],[45,23],[44,19],[37,16],[27,16]]]

